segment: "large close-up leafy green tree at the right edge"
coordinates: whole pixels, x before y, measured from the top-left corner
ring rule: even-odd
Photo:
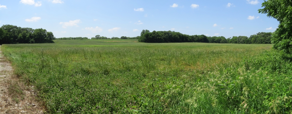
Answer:
[[[259,13],[267,14],[268,17],[279,21],[277,30],[272,34],[274,49],[284,53],[292,52],[292,1],[291,0],[267,0],[262,4],[263,9]]]

